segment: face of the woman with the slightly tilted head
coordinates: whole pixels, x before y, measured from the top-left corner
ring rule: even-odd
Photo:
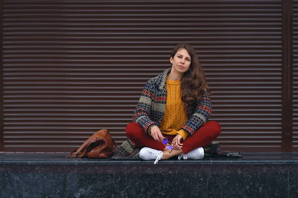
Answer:
[[[186,49],[179,49],[174,58],[170,57],[170,62],[172,63],[172,69],[183,74],[189,69],[191,57]]]

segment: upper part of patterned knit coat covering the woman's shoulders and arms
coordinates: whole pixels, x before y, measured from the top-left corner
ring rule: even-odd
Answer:
[[[171,68],[168,68],[147,82],[134,112],[134,122],[139,123],[147,134],[151,125],[159,126],[163,119],[166,106],[166,77],[170,71]],[[202,127],[212,113],[212,105],[207,91],[204,92],[202,99],[187,108],[186,112],[188,120],[181,129],[187,131],[191,136]]]

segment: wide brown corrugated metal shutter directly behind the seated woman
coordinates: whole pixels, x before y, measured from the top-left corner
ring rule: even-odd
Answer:
[[[222,148],[281,148],[281,0],[3,0],[5,151],[69,151],[99,129],[118,144],[141,91],[197,49]]]

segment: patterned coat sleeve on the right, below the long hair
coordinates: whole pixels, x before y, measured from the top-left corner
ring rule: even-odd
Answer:
[[[212,113],[212,104],[207,91],[204,92],[202,99],[196,101],[195,106],[194,114],[181,127],[181,129],[187,131],[190,136],[207,122]]]

